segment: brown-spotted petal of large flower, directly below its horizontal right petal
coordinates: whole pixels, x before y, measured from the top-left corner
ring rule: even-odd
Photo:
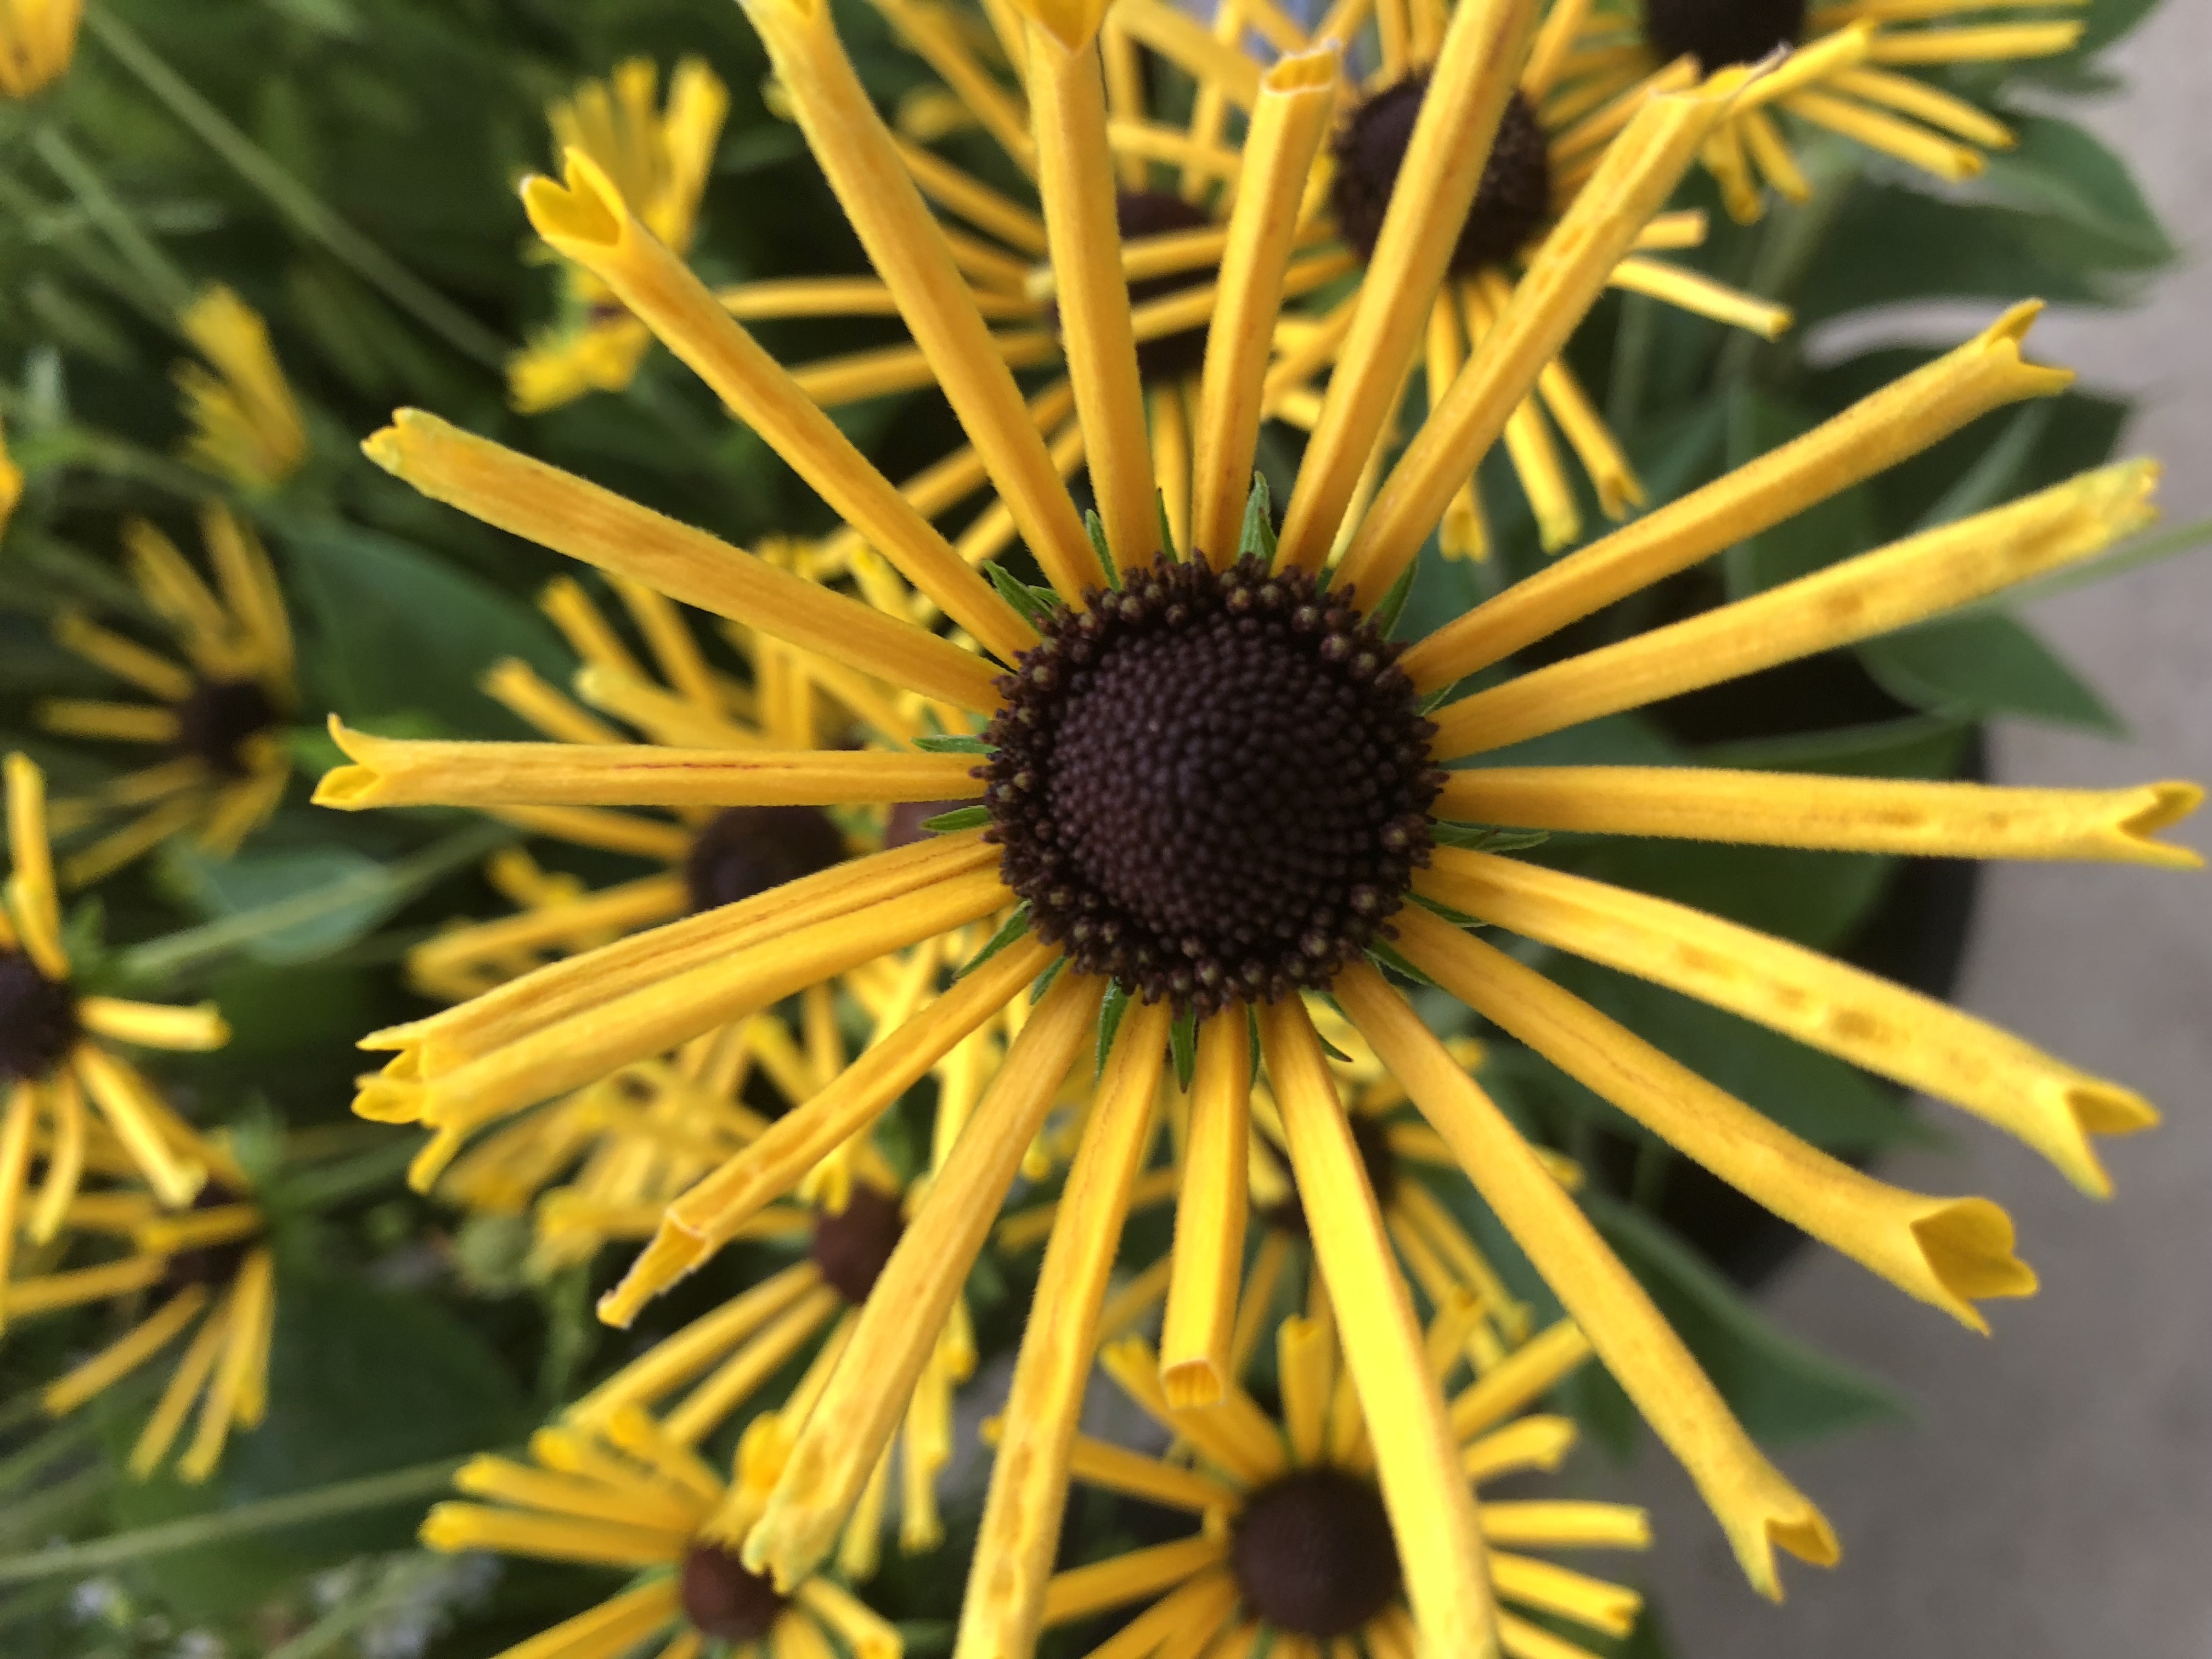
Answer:
[[[1458,849],[1440,849],[1436,869],[1416,885],[1524,938],[1666,984],[1964,1106],[2095,1197],[2112,1183],[2088,1137],[2159,1121],[2126,1088],[1969,1013],[1686,905]]]

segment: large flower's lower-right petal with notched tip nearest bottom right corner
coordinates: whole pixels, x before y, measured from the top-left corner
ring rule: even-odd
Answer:
[[[1836,1537],[1820,1511],[1761,1455],[1644,1287],[1405,998],[1365,964],[1336,980],[1336,995],[1690,1471],[1752,1586],[1781,1597],[1776,1544],[1818,1566],[1834,1564]]]

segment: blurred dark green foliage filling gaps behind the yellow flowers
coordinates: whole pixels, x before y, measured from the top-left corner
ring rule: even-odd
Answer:
[[[2090,0],[2088,33],[2064,58],[1940,73],[2022,135],[1973,186],[1947,190],[1843,144],[1807,146],[1818,195],[1774,206],[1754,228],[1730,223],[1703,179],[1686,186],[1686,206],[1708,208],[1714,223],[1690,261],[1785,301],[1798,327],[1770,345],[1635,296],[1599,305],[1573,361],[1652,500],[1763,453],[1931,356],[1823,352],[1827,325],[1916,301],[2126,305],[2172,259],[2172,243],[2126,161],[2068,115],[2068,100],[2121,91],[2099,53],[2150,4]],[[885,108],[927,82],[878,13],[843,4],[838,15]],[[272,1413],[206,1489],[115,1473],[142,1398],[104,1400],[84,1425],[40,1425],[35,1383],[62,1369],[82,1332],[71,1321],[9,1332],[4,1652],[179,1652],[181,1632],[197,1628],[230,1652],[283,1659],[420,1644],[462,1659],[544,1628],[593,1593],[575,1573],[509,1564],[491,1575],[407,1548],[442,1482],[440,1460],[520,1440],[580,1380],[752,1270],[734,1250],[637,1332],[611,1334],[588,1307],[617,1263],[531,1279],[515,1230],[458,1228],[442,1206],[405,1194],[396,1177],[407,1135],[349,1119],[361,1064],[352,1044],[425,1011],[396,964],[440,918],[500,909],[478,867],[509,832],[451,812],[305,805],[305,779],[336,759],[325,712],[385,732],[518,737],[478,690],[482,670],[502,655],[555,681],[573,668],[535,611],[538,588],[562,573],[555,555],[436,507],[361,458],[358,440],[394,405],[436,409],[743,544],[827,529],[821,502],[659,349],[624,394],[538,416],[509,407],[507,356],[560,305],[513,186],[553,159],[546,104],[633,55],[664,73],[699,55],[730,88],[692,246],[710,283],[863,270],[796,131],[770,111],[765,58],[728,0],[102,0],[71,71],[29,102],[0,104],[0,416],[27,473],[0,544],[0,743],[31,752],[58,790],[108,776],[97,745],[55,741],[31,719],[38,697],[100,690],[53,646],[51,619],[66,606],[144,619],[119,575],[126,515],[153,518],[186,544],[210,495],[250,515],[279,560],[299,633],[303,699],[290,743],[303,776],[243,854],[212,863],[170,849],[80,900],[93,909],[77,927],[91,936],[97,920],[111,940],[91,980],[221,1002],[234,1042],[164,1073],[201,1121],[232,1124],[239,1137],[327,1133],[352,1159],[341,1168],[356,1170],[352,1188],[290,1212],[276,1206],[285,1314]],[[982,144],[947,144],[980,173],[1002,166]],[[228,283],[268,319],[307,416],[307,467],[272,493],[241,493],[179,458],[170,376],[190,349],[175,316],[208,283]],[[761,332],[785,361],[896,338],[889,323],[876,336],[823,323]],[[933,394],[838,418],[894,476],[949,447],[951,420]],[[1621,637],[2039,489],[2106,460],[2126,420],[2115,387],[1991,416],[1542,650]],[[1281,500],[1294,442],[1270,434],[1263,465]],[[1447,562],[1431,549],[1405,633],[1540,564],[1502,458],[1482,482],[1493,557]],[[1586,509],[1597,522],[1595,502]],[[2201,531],[2166,531],[2110,566],[2197,540]],[[2117,730],[2093,686],[2008,611],[1986,608],[1495,759],[1973,776],[1989,719]],[[1840,951],[1936,993],[1951,982],[1973,905],[1964,867],[1871,856],[1577,836],[1531,856]],[[613,854],[575,854],[573,867],[626,869]],[[1931,1135],[1893,1091],[1725,1013],[1588,964],[1562,964],[1557,978],[1838,1155],[1878,1157]],[[1593,1170],[1593,1214],[1754,1433],[1785,1440],[1900,1409],[1878,1380],[1763,1321],[1745,1287],[1787,1245],[1772,1225],[1495,1033],[1484,1082]],[[1447,1197],[1548,1312],[1542,1283],[1482,1206],[1464,1190]],[[1159,1248],[1130,1228],[1133,1254]],[[987,1349],[1011,1347],[1029,1270],[987,1261],[971,1287]],[[1626,1455],[1637,1433],[1626,1400],[1595,1367],[1575,1391],[1597,1438]],[[1146,1517],[1086,1502],[1073,1524],[1091,1551],[1141,1535]],[[53,1540],[75,1542],[40,1555]],[[938,1557],[885,1568],[878,1599],[907,1621],[909,1652],[949,1646],[960,1579],[951,1564],[962,1555],[956,1524]],[[1630,1648],[1659,1644],[1648,1626]]]

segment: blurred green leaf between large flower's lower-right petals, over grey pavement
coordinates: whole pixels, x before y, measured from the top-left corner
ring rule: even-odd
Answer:
[[[1657,1221],[1604,1194],[1584,1203],[1754,1440],[1809,1440],[1907,1416],[1889,1387],[1767,1323]]]

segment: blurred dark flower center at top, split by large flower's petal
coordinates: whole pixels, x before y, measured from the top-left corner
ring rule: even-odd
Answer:
[[[1400,82],[1360,102],[1336,135],[1336,177],[1329,201],[1336,228],[1360,259],[1374,259],[1383,215],[1389,210],[1405,146],[1413,137],[1429,71],[1416,69]],[[1482,166],[1475,206],[1467,210],[1460,243],[1451,250],[1453,274],[1467,276],[1500,265],[1526,248],[1551,217],[1551,146],[1544,124],[1520,93],[1506,97],[1506,113]]]

